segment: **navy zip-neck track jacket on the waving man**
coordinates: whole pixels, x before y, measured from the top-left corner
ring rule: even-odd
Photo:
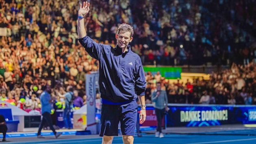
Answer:
[[[146,80],[139,55],[128,51],[122,53],[106,44],[98,44],[88,36],[79,39],[89,55],[99,60],[99,86],[104,104],[124,104],[145,95]]]

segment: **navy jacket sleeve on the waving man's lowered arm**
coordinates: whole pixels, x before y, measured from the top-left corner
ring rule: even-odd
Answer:
[[[145,72],[143,70],[143,66],[141,63],[141,60],[137,59],[137,74],[135,76],[135,92],[137,95],[145,95],[146,90],[146,78],[145,78]]]

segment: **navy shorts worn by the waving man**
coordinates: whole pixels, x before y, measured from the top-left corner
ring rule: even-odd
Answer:
[[[118,124],[121,123],[123,135],[134,136],[137,122],[138,104],[102,104],[100,136],[118,136]]]

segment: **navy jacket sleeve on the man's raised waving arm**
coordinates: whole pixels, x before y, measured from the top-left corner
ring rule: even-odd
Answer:
[[[90,37],[85,36],[83,38],[79,39],[80,44],[85,48],[85,51],[88,52],[88,54],[99,60],[103,53],[103,47],[104,44],[98,44],[95,41],[93,41]]]

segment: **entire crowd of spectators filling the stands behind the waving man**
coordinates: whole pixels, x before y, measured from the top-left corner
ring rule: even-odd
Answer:
[[[40,109],[38,97],[49,84],[56,102],[64,102],[59,94],[73,86],[86,104],[85,74],[97,71],[99,65],[78,42],[78,3],[0,0],[1,100],[27,111]],[[132,51],[143,65],[230,65],[213,72],[210,80],[187,83],[169,83],[147,72],[148,103],[156,80],[162,82],[170,103],[254,104],[255,4],[254,0],[93,0],[85,24],[88,36],[113,47],[118,25],[131,24]]]

